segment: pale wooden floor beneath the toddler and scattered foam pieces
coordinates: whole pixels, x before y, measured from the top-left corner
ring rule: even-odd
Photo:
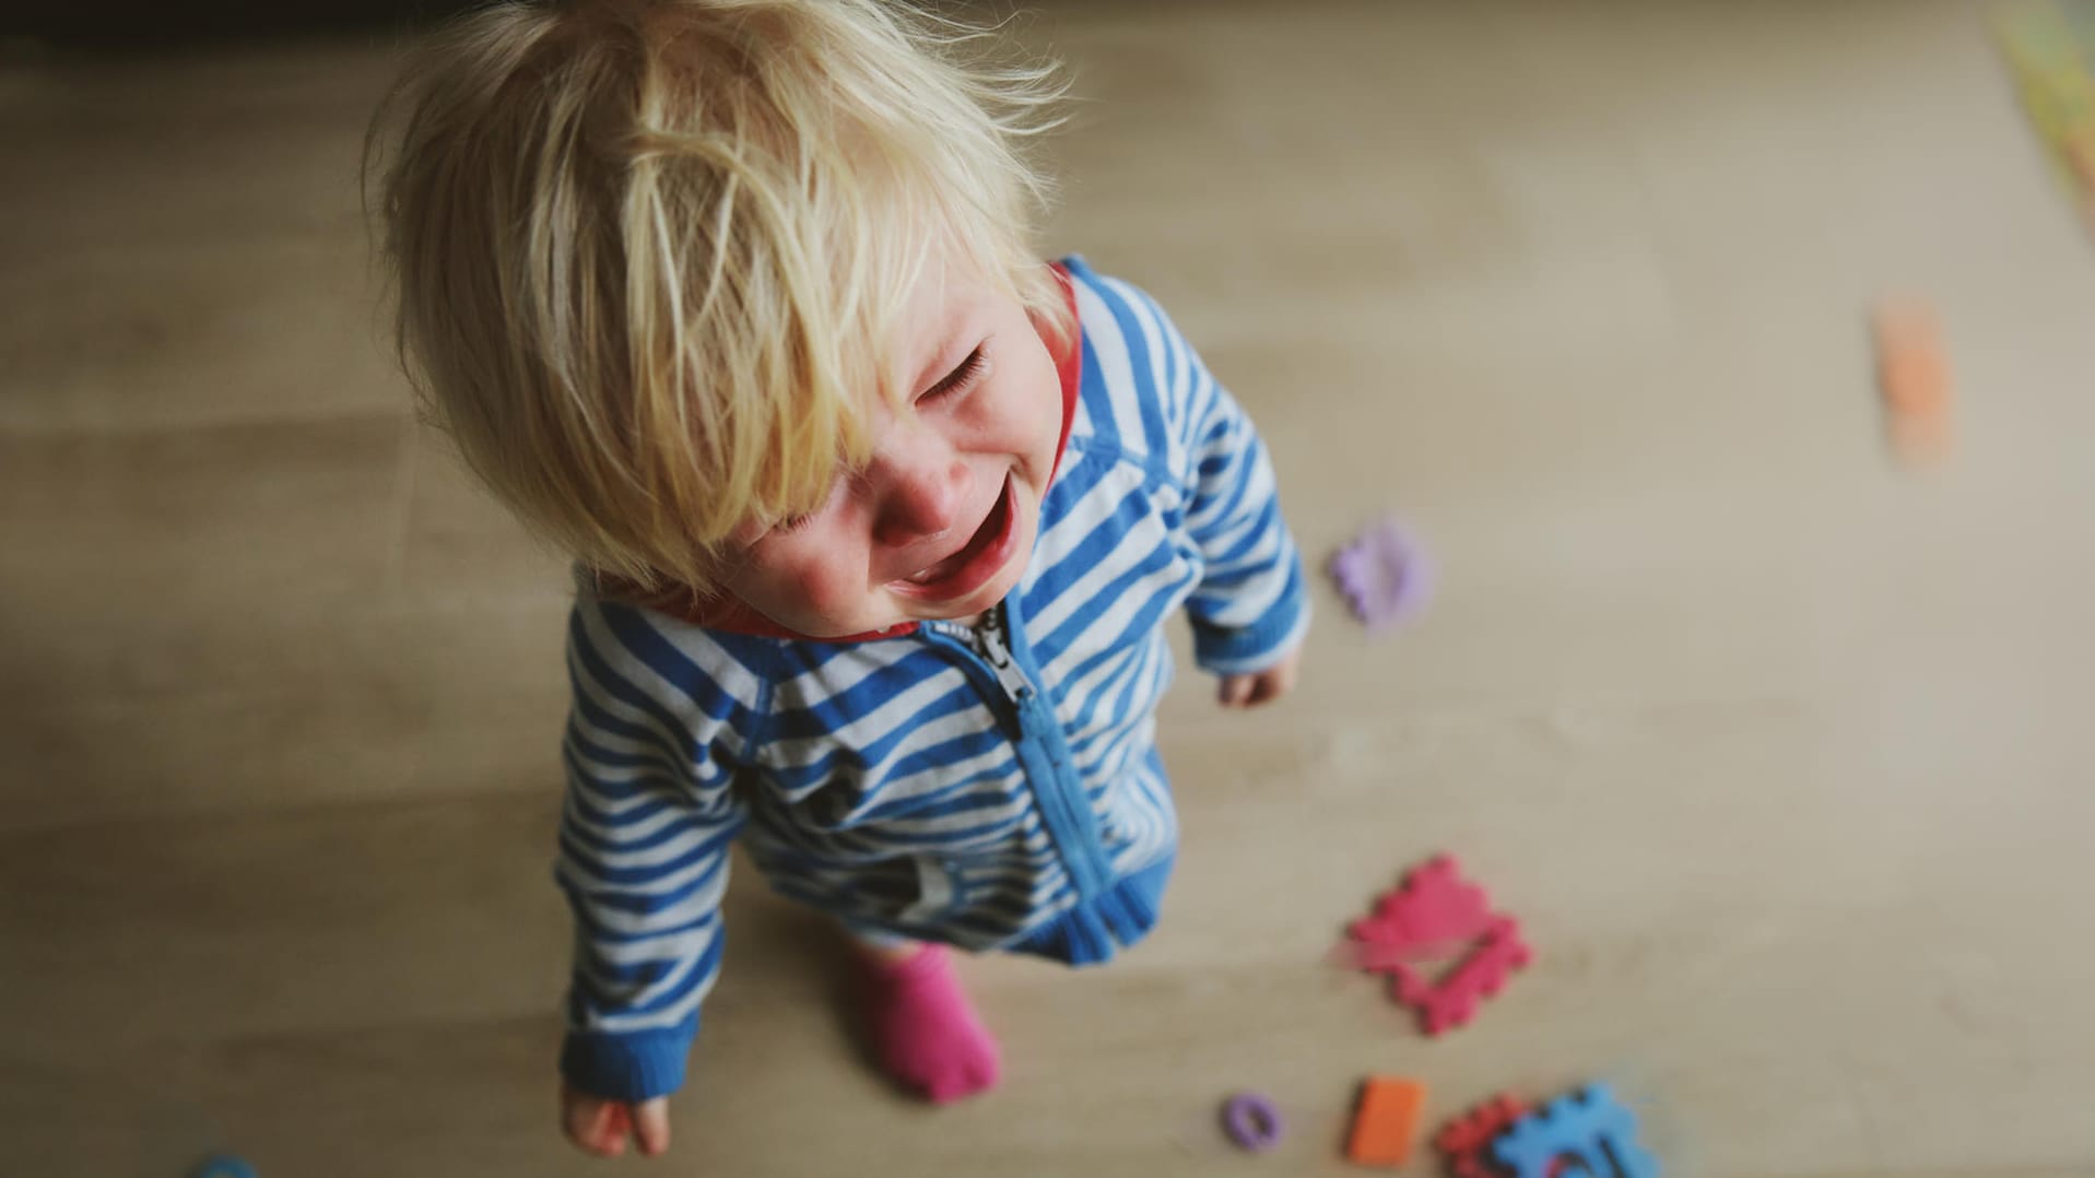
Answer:
[[[1050,4],[1056,249],[1159,293],[1322,558],[1441,564],[1297,696],[1186,675],[1163,929],[974,968],[930,1111],[744,874],[729,1178],[1339,1174],[1588,1077],[1684,1176],[2095,1174],[2095,247],[1965,4]],[[356,155],[388,38],[0,67],[0,1172],[599,1172],[553,1128],[564,581],[417,432]],[[1894,467],[1865,312],[1942,308]],[[1322,964],[1458,853],[1540,960],[1439,1042]],[[1293,1134],[1236,1157],[1215,1107]],[[1427,1174],[1418,1163],[1412,1174]]]

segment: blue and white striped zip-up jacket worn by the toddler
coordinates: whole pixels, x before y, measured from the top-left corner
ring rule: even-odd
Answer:
[[[1240,673],[1309,612],[1242,409],[1148,296],[1062,266],[1068,438],[1027,572],[978,631],[731,633],[578,576],[557,866],[576,1088],[681,1086],[735,838],[784,895],[878,933],[1087,964],[1156,920],[1177,836],[1163,620],[1186,606],[1200,667]]]

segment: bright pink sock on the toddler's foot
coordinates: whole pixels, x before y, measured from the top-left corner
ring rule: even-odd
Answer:
[[[905,1088],[945,1105],[997,1084],[997,1040],[974,1015],[943,945],[901,962],[867,960],[880,1063]]]

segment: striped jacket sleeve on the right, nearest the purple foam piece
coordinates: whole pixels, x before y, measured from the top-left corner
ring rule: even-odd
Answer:
[[[1186,616],[1194,660],[1215,675],[1263,671],[1309,629],[1301,553],[1286,520],[1265,442],[1251,417],[1179,335],[1161,306],[1127,283],[1106,281],[1121,314],[1140,323],[1169,432],[1169,461],[1186,488],[1184,528],[1203,572]]]

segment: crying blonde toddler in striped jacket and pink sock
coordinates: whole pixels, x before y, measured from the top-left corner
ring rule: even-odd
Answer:
[[[1039,67],[878,0],[497,4],[388,99],[429,417],[576,560],[566,1134],[668,1147],[740,843],[859,945],[886,1071],[997,1046],[947,947],[1104,962],[1177,826],[1184,606],[1223,706],[1295,681],[1301,562],[1156,304],[1031,249]]]

